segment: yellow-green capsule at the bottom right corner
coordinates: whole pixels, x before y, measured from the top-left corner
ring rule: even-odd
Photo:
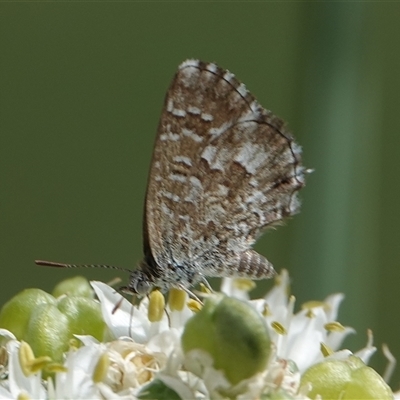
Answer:
[[[393,399],[392,391],[382,377],[358,357],[326,360],[311,366],[302,376],[301,384],[311,383],[308,397],[314,399]]]

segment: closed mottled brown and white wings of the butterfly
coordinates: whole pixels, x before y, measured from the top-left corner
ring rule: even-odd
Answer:
[[[145,253],[161,274],[174,266],[230,276],[265,227],[298,211],[303,185],[300,149],[283,122],[230,72],[186,61],[158,128]]]

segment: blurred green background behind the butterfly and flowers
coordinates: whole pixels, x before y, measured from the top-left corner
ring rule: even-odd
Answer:
[[[257,249],[290,271],[298,307],[346,294],[349,348],[371,328],[400,359],[399,21],[380,2],[2,3],[0,303],[77,272],[37,258],[135,267],[164,95],[193,57],[288,121],[315,169],[302,213]]]

